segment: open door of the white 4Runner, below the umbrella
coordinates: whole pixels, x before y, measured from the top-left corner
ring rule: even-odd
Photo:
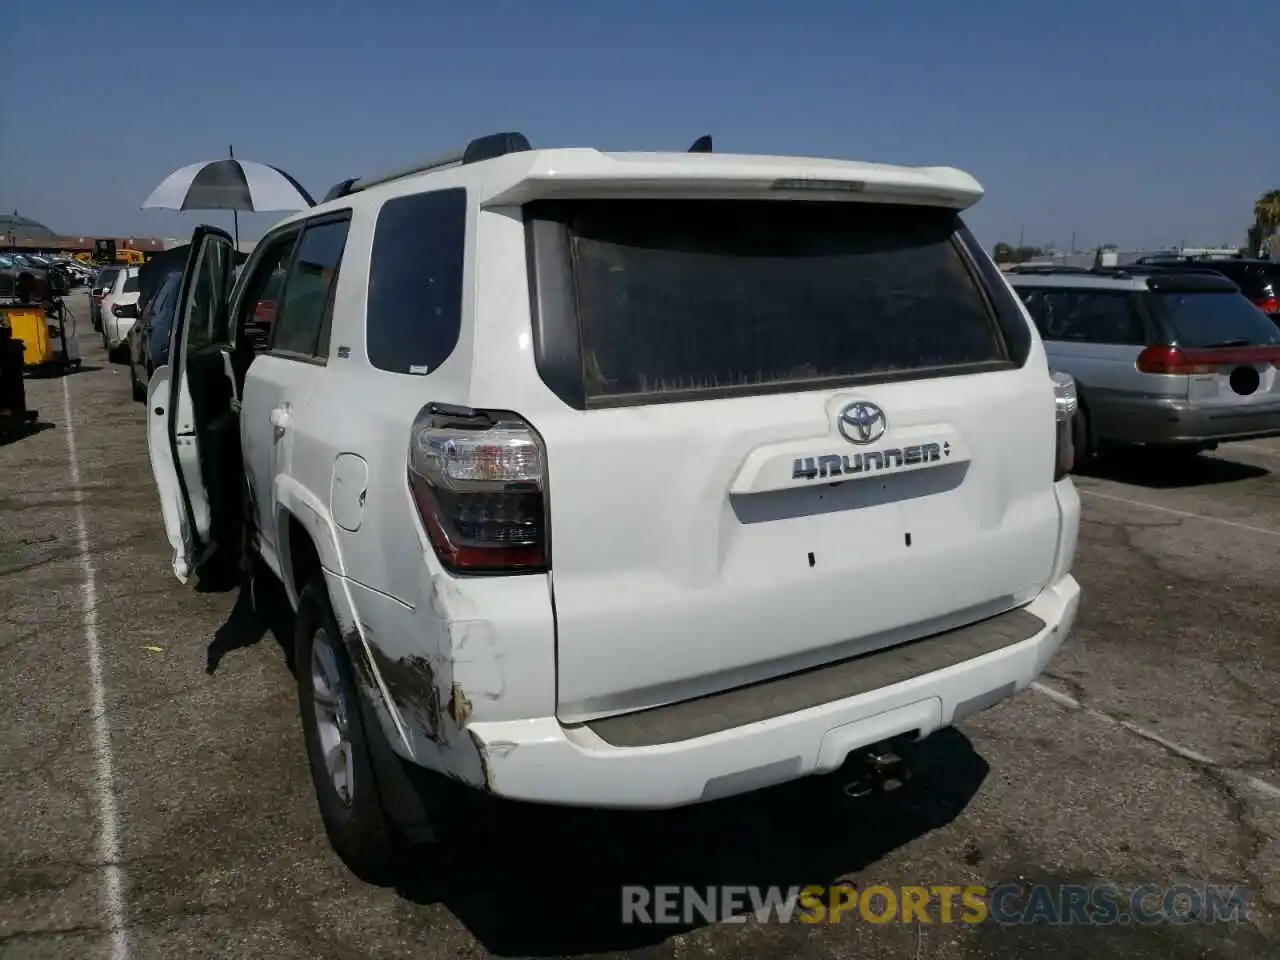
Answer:
[[[173,572],[182,582],[239,545],[238,384],[227,362],[234,262],[225,230],[196,228],[178,288],[169,362],[147,387],[151,471]]]

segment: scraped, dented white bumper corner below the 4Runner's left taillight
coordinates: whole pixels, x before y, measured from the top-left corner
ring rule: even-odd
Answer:
[[[500,792],[507,754],[490,751],[476,724],[556,713],[547,577],[451,577],[424,564],[415,607],[347,584],[353,609],[339,626],[396,751]]]

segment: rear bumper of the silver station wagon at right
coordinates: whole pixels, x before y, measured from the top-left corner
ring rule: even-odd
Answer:
[[[1101,439],[1123,443],[1225,443],[1280,436],[1280,399],[1248,407],[1192,407],[1184,401],[1106,404]]]

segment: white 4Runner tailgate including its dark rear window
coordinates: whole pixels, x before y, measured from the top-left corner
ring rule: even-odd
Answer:
[[[563,229],[579,351],[540,364],[576,408],[538,420],[562,719],[902,643],[1044,586],[1052,389],[955,211],[532,207]]]

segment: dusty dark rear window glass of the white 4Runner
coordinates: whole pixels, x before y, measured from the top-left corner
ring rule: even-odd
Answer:
[[[568,225],[589,398],[1006,360],[954,211],[582,201]]]

